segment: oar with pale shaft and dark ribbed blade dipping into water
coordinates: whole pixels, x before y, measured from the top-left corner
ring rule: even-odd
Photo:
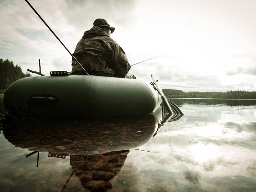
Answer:
[[[159,87],[157,80],[155,79],[155,77],[151,74],[151,78],[154,81],[154,84],[156,85],[156,88],[158,90],[158,93],[161,95],[162,101],[163,101],[163,106],[162,106],[162,112],[163,113],[170,113],[170,114],[180,114],[180,115],[184,115],[180,108],[174,104],[174,102],[167,100],[166,96],[164,96],[161,88]]]

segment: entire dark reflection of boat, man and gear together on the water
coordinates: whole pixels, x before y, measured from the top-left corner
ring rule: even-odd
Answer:
[[[160,109],[153,115],[130,117],[5,121],[3,134],[15,147],[34,151],[26,158],[36,153],[39,158],[42,151],[48,152],[48,157],[69,156],[70,177],[75,174],[90,191],[107,191],[129,149],[144,145],[164,123],[181,117],[161,114]]]

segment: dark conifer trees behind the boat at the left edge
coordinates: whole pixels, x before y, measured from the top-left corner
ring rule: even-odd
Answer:
[[[22,72],[21,66],[17,64],[14,66],[12,61],[0,58],[0,93],[4,93],[14,81],[29,76],[31,74],[28,71],[26,74]]]

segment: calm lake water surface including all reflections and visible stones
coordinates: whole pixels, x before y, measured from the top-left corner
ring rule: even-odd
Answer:
[[[1,191],[256,191],[256,100],[170,100],[180,119],[2,118]]]

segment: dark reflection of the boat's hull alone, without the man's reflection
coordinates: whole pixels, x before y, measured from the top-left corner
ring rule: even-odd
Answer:
[[[50,119],[4,124],[3,134],[16,147],[50,153],[93,155],[144,145],[155,133],[154,115],[133,118]]]

